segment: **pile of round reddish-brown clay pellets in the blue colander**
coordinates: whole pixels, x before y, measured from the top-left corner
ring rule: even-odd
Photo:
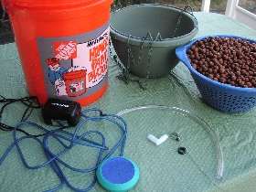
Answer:
[[[187,56],[197,71],[211,80],[256,88],[256,43],[232,37],[198,40]]]

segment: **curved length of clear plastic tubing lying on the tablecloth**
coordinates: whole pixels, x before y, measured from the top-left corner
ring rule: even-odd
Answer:
[[[194,115],[191,112],[188,112],[187,110],[183,110],[177,107],[163,106],[163,105],[146,105],[146,106],[134,107],[131,109],[125,109],[121,112],[118,112],[117,115],[123,116],[124,114],[131,113],[131,112],[142,111],[142,110],[154,110],[154,109],[168,110],[170,112],[176,112],[183,116],[187,116],[190,119],[192,119],[194,122],[201,125],[209,133],[216,147],[217,162],[218,162],[216,178],[221,179],[223,177],[223,172],[224,172],[224,160],[223,160],[222,148],[221,148],[221,145],[219,144],[219,136],[217,133],[215,133],[214,130],[211,129],[209,124],[202,118],[198,117],[197,115]]]

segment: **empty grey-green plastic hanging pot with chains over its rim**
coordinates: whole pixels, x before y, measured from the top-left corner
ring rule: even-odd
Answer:
[[[197,31],[195,16],[169,5],[131,5],[112,13],[112,45],[125,68],[141,78],[168,74],[178,63],[176,48]]]

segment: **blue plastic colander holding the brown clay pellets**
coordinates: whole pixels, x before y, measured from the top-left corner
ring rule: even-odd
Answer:
[[[234,37],[248,40],[251,43],[256,43],[244,37],[236,36],[210,36],[210,37]],[[248,112],[256,105],[256,89],[255,88],[239,88],[229,84],[220,83],[211,80],[208,77],[200,74],[191,66],[187,58],[187,49],[189,49],[197,40],[202,40],[207,37],[200,37],[189,44],[176,48],[176,56],[180,59],[190,70],[193,79],[197,84],[197,89],[202,95],[203,101],[213,108],[222,112]]]

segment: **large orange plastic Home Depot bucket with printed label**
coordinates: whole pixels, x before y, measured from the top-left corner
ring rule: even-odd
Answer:
[[[29,94],[41,104],[57,97],[88,105],[107,90],[111,5],[112,0],[4,0]],[[79,89],[85,83],[84,89],[70,91],[70,77]]]

